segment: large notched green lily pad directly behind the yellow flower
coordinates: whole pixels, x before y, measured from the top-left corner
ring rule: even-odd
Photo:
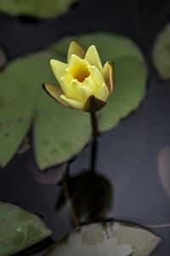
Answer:
[[[69,159],[88,143],[91,133],[88,114],[63,108],[42,91],[43,82],[57,83],[49,60],[56,58],[65,61],[72,39],[65,38],[49,49],[13,61],[1,73],[2,166],[14,156],[31,121],[34,121],[34,147],[40,169]],[[95,44],[103,62],[115,62],[116,88],[106,107],[99,113],[100,130],[111,129],[137,108],[144,97],[147,72],[143,56],[138,47],[124,37],[95,33],[74,39],[85,49],[89,44]]]

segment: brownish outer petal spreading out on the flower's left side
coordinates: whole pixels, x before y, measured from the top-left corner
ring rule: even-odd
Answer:
[[[59,86],[55,86],[53,84],[42,84],[42,88],[48,93],[49,96],[52,96],[55,101],[69,108],[69,105],[66,104],[66,102],[63,102],[60,98],[61,95],[63,95],[63,91]]]

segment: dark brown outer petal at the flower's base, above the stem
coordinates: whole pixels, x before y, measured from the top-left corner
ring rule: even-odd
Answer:
[[[86,100],[82,110],[84,112],[97,112],[101,108],[104,108],[105,104],[106,104],[105,102],[99,100],[94,95],[91,95]]]

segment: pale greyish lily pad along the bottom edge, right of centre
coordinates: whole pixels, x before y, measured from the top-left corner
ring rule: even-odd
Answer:
[[[84,225],[53,245],[46,256],[148,256],[161,241],[137,225],[107,222]]]

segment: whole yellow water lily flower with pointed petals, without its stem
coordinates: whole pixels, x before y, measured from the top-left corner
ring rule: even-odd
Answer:
[[[78,108],[85,112],[99,111],[105,106],[113,89],[113,64],[107,61],[102,67],[94,45],[85,52],[74,41],[69,46],[67,61],[50,61],[60,86],[43,84],[43,88],[67,108]]]

